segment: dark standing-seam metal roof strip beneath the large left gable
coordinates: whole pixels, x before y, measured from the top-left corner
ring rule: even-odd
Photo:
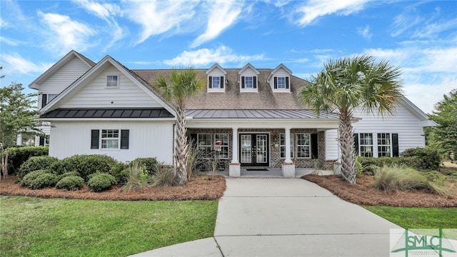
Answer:
[[[56,109],[40,118],[173,118],[166,109]]]

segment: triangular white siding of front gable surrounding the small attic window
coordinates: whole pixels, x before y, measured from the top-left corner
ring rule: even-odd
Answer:
[[[119,76],[118,88],[106,88],[106,76]],[[112,102],[112,104],[111,104]],[[162,108],[146,91],[110,66],[89,81],[61,108]]]

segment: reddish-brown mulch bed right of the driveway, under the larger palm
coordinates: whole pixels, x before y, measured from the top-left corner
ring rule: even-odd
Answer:
[[[383,192],[373,188],[373,177],[362,174],[356,184],[341,176],[306,175],[302,178],[326,188],[339,198],[366,206],[457,207],[457,196],[438,196],[428,191]]]

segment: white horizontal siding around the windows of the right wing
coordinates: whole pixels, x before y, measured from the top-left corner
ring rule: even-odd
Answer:
[[[361,118],[353,124],[355,133],[373,133],[374,156],[378,153],[377,133],[398,133],[399,153],[407,148],[425,146],[422,121],[403,106],[398,106],[393,116],[368,115],[361,109],[354,111],[353,116]]]

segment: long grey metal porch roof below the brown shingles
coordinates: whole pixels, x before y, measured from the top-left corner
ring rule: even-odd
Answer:
[[[208,110],[191,109],[186,111],[192,119],[338,119],[336,114],[321,113],[311,110]]]

